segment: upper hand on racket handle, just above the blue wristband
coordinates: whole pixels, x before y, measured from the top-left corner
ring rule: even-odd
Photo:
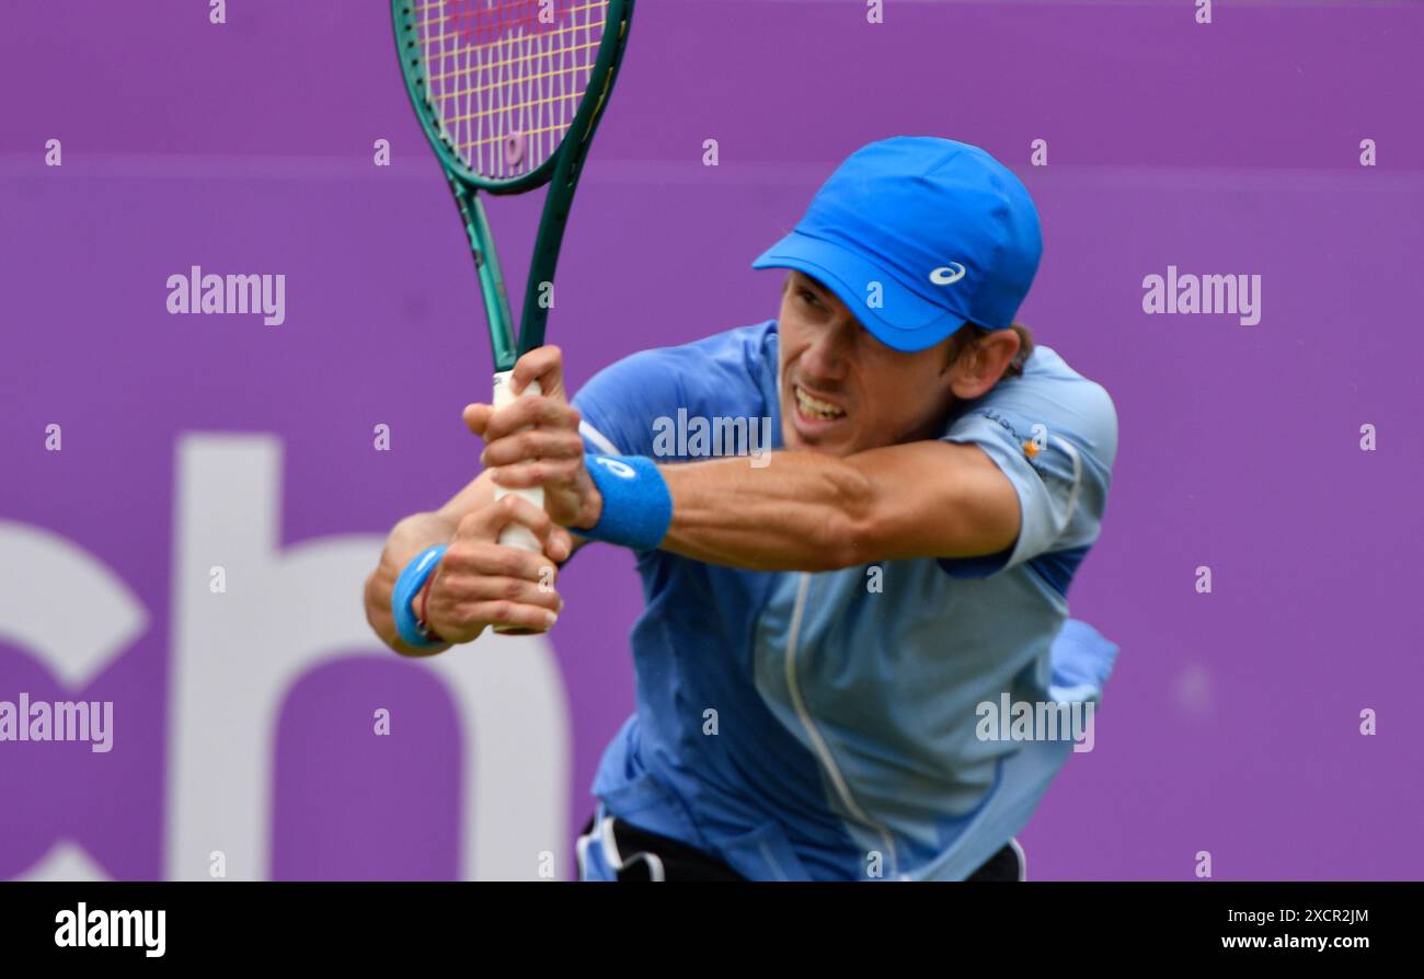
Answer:
[[[464,423],[484,440],[480,462],[506,490],[544,487],[544,508],[562,526],[592,526],[602,498],[584,465],[578,411],[564,391],[564,354],[558,347],[530,350],[514,364],[514,388],[537,380],[541,397],[518,397],[496,411],[471,404]]]

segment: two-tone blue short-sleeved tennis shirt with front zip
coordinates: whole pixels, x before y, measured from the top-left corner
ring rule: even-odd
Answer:
[[[574,398],[588,450],[689,461],[705,448],[672,428],[696,418],[769,418],[780,448],[776,342],[772,320],[608,367]],[[1065,596],[1116,413],[1040,346],[943,438],[1012,481],[1010,551],[819,573],[638,554],[638,707],[594,780],[601,814],[755,879],[963,879],[1022,828],[1072,741],[985,737],[981,704],[1095,703],[1112,669],[1116,646]]]

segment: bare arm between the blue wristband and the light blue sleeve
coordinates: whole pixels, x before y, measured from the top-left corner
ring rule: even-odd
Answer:
[[[975,445],[917,441],[844,458],[775,453],[664,465],[662,549],[756,571],[833,571],[904,558],[970,558],[1014,545],[1014,484]]]

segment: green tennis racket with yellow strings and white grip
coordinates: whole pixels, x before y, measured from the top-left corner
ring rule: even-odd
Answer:
[[[440,158],[484,296],[494,407],[508,404],[520,354],[544,343],[548,296],[578,175],[622,60],[634,0],[392,0],[406,91]],[[515,343],[480,194],[548,185]],[[521,394],[537,396],[538,384]],[[517,492],[544,507],[543,490]],[[511,524],[500,544],[540,551]]]

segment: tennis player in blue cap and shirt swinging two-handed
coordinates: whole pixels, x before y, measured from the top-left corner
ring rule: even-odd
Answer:
[[[544,629],[554,565],[637,554],[638,703],[584,879],[1024,878],[1014,834],[1072,743],[1000,737],[985,706],[1095,703],[1116,656],[1065,598],[1116,414],[1014,322],[1041,249],[983,149],[874,142],[756,259],[786,270],[775,320],[638,353],[572,403],[541,347],[514,383],[544,397],[466,408],[488,468],[396,526],[367,615],[407,655]],[[695,458],[661,437],[679,411],[770,418],[772,445]],[[544,554],[501,548],[510,522]]]

